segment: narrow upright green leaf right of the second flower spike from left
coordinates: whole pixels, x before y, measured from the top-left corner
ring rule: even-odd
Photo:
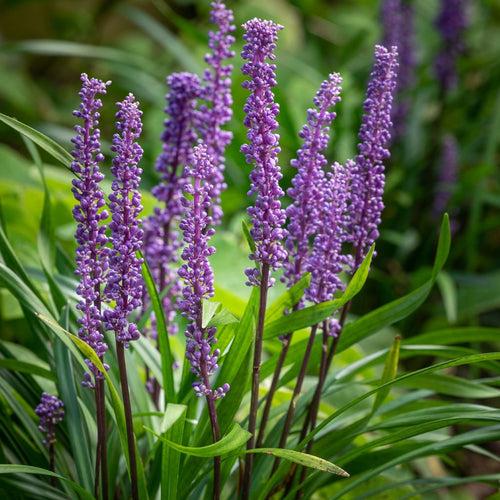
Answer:
[[[165,392],[165,400],[167,402],[175,403],[177,397],[174,387],[174,374],[172,372],[174,366],[174,358],[170,349],[170,339],[168,337],[163,306],[158,295],[158,290],[156,289],[155,282],[153,280],[153,275],[151,274],[146,259],[143,259],[142,263],[142,276],[144,278],[146,288],[148,289],[149,298],[153,305],[153,310],[156,317],[156,330],[158,333],[158,343],[160,346],[162,381],[163,390]]]

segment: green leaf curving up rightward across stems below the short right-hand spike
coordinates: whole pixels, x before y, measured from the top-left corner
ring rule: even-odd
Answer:
[[[270,339],[284,333],[301,330],[302,328],[316,325],[324,319],[332,316],[335,311],[352,300],[352,298],[363,288],[366,278],[368,277],[368,271],[370,270],[373,251],[374,247],[372,246],[368,255],[365,257],[365,260],[361,266],[359,266],[358,270],[347,285],[345,292],[340,298],[330,300],[328,302],[322,302],[321,304],[316,304],[314,306],[305,307],[304,309],[300,309],[286,316],[282,316],[280,319],[272,321],[265,327],[264,338]]]

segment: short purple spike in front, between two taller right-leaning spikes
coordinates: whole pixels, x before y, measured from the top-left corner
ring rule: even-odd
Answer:
[[[307,266],[311,284],[306,290],[306,298],[316,304],[332,300],[338,290],[344,289],[339,275],[352,264],[351,259],[342,254],[342,245],[348,238],[347,202],[352,168],[352,160],[345,166],[335,163],[323,181],[321,211],[318,213],[320,229]]]

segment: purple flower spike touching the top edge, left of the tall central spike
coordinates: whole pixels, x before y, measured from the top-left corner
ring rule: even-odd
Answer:
[[[234,16],[231,9],[220,1],[212,2],[210,19],[217,26],[217,31],[210,31],[208,46],[211,52],[205,55],[208,68],[203,74],[201,98],[204,103],[199,108],[198,128],[208,153],[214,159],[217,169],[210,183],[213,186],[212,217],[214,224],[219,224],[222,218],[220,196],[226,189],[224,182],[224,151],[233,138],[232,132],[222,127],[231,120],[233,115],[231,96],[231,72],[233,66],[225,61],[234,57],[231,49],[235,38],[232,35]]]

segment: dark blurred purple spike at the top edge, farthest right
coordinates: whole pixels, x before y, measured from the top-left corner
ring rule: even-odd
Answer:
[[[442,48],[434,67],[443,90],[450,90],[457,83],[457,59],[465,48],[467,24],[466,0],[441,0],[435,25],[442,38]]]

